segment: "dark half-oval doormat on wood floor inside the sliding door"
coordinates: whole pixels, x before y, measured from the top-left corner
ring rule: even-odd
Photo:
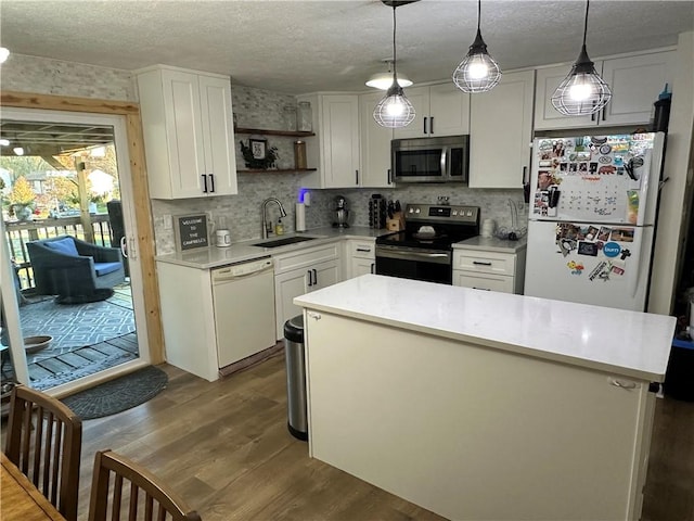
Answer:
[[[159,394],[167,383],[166,372],[158,367],[147,366],[125,377],[67,396],[61,402],[82,420],[91,420],[144,404]]]

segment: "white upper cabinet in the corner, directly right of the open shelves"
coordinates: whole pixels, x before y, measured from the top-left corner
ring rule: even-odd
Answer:
[[[304,178],[306,188],[355,188],[360,186],[359,97],[357,94],[308,94],[298,97],[313,107],[313,131],[307,138],[308,164],[318,170]]]

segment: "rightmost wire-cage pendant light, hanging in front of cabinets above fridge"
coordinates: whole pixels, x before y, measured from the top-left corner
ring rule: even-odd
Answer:
[[[612,98],[609,86],[600,74],[586,52],[586,34],[588,33],[588,8],[586,0],[586,21],[583,23],[583,46],[568,76],[552,94],[554,109],[566,116],[584,116],[600,111]]]

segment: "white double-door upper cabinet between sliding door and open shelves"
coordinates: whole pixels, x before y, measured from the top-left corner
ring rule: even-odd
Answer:
[[[150,196],[237,193],[229,78],[155,66],[137,79]]]

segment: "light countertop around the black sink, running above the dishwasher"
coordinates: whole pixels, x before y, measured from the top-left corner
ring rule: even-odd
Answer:
[[[271,255],[280,255],[282,253],[293,252],[305,247],[320,246],[321,244],[327,244],[342,239],[376,238],[385,233],[389,232],[385,229],[376,230],[367,227],[352,227],[346,229],[331,227],[316,228],[305,232],[272,236],[268,239],[253,239],[235,242],[228,247],[209,246],[176,252],[167,255],[156,255],[155,259],[160,263],[177,264],[179,266],[188,266],[190,268],[210,269],[268,257]],[[274,241],[290,237],[310,237],[314,239],[278,247],[262,247],[254,245],[264,241]]]

